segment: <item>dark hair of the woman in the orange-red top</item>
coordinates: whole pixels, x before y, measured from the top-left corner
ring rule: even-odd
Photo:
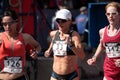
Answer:
[[[2,18],[5,16],[10,16],[13,20],[18,19],[18,15],[14,10],[5,10],[2,14]]]

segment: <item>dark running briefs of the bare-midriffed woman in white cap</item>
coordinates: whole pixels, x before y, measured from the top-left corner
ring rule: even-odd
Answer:
[[[77,71],[73,71],[72,73],[69,73],[66,75],[59,75],[53,71],[52,77],[57,80],[73,80],[74,78],[78,77],[78,73]]]

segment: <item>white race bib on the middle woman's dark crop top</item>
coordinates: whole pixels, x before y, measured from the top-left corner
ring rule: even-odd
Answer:
[[[55,41],[53,44],[54,55],[65,56],[67,55],[67,43],[65,41]]]

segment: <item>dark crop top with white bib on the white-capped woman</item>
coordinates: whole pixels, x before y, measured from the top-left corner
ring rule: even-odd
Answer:
[[[72,41],[72,32],[73,30],[70,31],[70,38]],[[54,55],[57,56],[66,56],[66,55],[75,55],[74,52],[71,50],[70,46],[67,45],[65,40],[60,40],[59,37],[59,31],[56,32],[55,39],[53,41],[53,52]]]

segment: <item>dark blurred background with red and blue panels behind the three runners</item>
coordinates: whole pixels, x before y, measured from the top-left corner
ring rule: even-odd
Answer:
[[[72,12],[73,22],[81,14],[82,7],[87,8],[87,22],[84,30],[83,46],[86,53],[84,61],[78,59],[81,80],[102,80],[103,61],[102,54],[94,66],[88,66],[86,60],[93,56],[99,43],[99,29],[108,25],[105,16],[105,6],[108,2],[119,0],[0,0],[0,17],[5,9],[13,9],[18,13],[20,32],[31,34],[42,46],[42,51],[36,60],[29,56],[27,47],[27,71],[30,80],[49,80],[52,71],[52,55],[44,57],[44,51],[49,47],[49,32],[55,30],[53,22],[55,12],[67,8]],[[76,23],[73,28],[78,31]],[[0,31],[4,31],[0,24]],[[103,51],[104,53],[104,51]]]

